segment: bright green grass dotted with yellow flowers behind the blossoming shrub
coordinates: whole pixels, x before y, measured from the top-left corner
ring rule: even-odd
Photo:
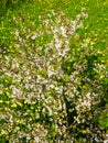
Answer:
[[[48,6],[48,9],[46,6]],[[17,7],[14,4],[13,8],[10,7],[7,10],[6,15],[1,16],[0,40],[4,41],[4,43],[7,41],[8,44],[9,38],[13,36],[11,34],[17,29],[17,25],[14,25],[14,22],[12,20],[13,16],[19,18],[19,22],[18,22],[19,29],[22,29],[21,20],[25,20],[28,26],[30,28],[32,21],[35,22],[35,26],[37,25],[39,14],[41,13],[45,14],[51,9],[55,9],[55,10],[62,9],[67,14],[68,18],[75,19],[76,14],[79,13],[82,7],[86,7],[89,16],[87,20],[85,20],[85,24],[84,24],[85,29],[79,30],[78,33],[83,37],[97,38],[97,43],[98,42],[100,43],[98,44],[98,47],[104,48],[104,45],[108,45],[107,42],[108,2],[106,0],[104,0],[102,2],[99,0],[97,1],[84,0],[83,2],[80,1],[47,2],[46,1],[46,2],[35,2],[34,6],[32,4],[32,2],[24,2],[24,3],[22,2],[20,7],[19,6]],[[33,29],[35,29],[35,26]]]

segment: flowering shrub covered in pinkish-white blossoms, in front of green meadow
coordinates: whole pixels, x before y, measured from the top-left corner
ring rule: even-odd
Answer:
[[[51,11],[39,16],[35,30],[22,18],[13,47],[8,54],[2,50],[2,142],[102,142],[98,117],[108,100],[107,64],[104,53],[93,48],[96,38],[77,33],[87,16],[85,8],[75,20]]]

